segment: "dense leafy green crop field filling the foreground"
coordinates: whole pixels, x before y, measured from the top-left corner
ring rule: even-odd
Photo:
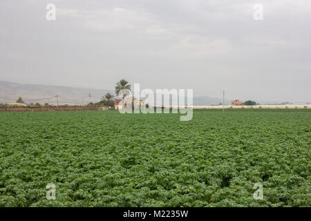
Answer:
[[[311,206],[310,125],[310,110],[0,113],[0,206]]]

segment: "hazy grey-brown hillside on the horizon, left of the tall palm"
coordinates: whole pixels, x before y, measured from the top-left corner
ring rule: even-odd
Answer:
[[[91,102],[99,102],[100,97],[112,90],[100,90],[91,88],[72,88],[66,86],[44,86],[32,84],[17,84],[8,81],[0,81],[0,103],[16,102],[20,96],[24,102],[44,104],[88,104],[88,94],[91,94]]]

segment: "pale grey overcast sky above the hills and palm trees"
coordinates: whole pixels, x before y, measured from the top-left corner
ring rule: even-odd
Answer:
[[[311,102],[310,0],[1,0],[0,28],[2,81]]]

